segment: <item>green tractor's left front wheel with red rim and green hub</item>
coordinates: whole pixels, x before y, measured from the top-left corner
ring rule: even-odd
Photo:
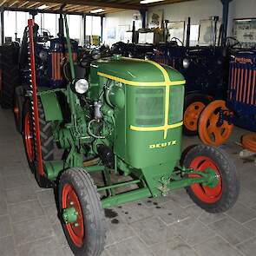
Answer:
[[[75,256],[100,256],[106,236],[102,203],[94,182],[82,168],[64,171],[59,182],[62,228]]]

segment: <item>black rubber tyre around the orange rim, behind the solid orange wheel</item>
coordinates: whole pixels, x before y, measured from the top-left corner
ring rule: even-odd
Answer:
[[[187,95],[185,97],[185,102],[184,102],[184,113],[187,107],[194,102],[202,102],[207,106],[211,102],[211,100],[209,99],[209,97],[207,97],[207,95],[200,95],[200,94]],[[183,125],[183,134],[187,136],[195,136],[195,135],[198,135],[198,131],[189,130],[185,127],[185,125]]]

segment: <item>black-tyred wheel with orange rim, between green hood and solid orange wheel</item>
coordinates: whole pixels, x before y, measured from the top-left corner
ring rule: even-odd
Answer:
[[[187,95],[184,105],[183,133],[187,136],[198,134],[198,121],[200,114],[207,107],[210,100],[205,95]]]

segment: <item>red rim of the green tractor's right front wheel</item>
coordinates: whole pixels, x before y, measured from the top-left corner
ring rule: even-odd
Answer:
[[[195,171],[205,172],[209,167],[215,171],[219,177],[219,182],[216,187],[207,187],[202,184],[194,184],[191,186],[194,194],[203,202],[213,204],[220,200],[222,195],[222,178],[220,170],[216,163],[206,156],[198,156],[191,162],[190,167],[194,168]],[[189,175],[189,177],[199,177],[199,175]]]

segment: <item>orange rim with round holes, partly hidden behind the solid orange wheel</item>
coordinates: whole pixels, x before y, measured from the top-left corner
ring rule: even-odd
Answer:
[[[191,103],[184,113],[184,126],[190,131],[197,131],[200,114],[206,105],[203,102]]]

